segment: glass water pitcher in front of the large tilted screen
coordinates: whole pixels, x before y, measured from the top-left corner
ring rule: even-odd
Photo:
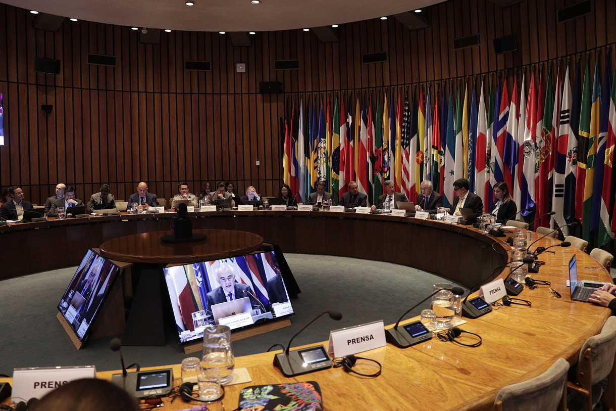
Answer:
[[[221,384],[231,380],[235,359],[231,350],[231,329],[226,325],[210,325],[203,330],[203,370],[214,368],[221,373]]]

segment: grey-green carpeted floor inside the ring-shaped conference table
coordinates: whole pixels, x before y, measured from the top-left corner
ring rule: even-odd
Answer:
[[[394,323],[416,302],[432,292],[442,278],[415,268],[390,263],[324,255],[287,254],[288,264],[302,290],[294,299],[291,326],[233,342],[235,355],[264,352],[275,343],[286,345],[291,336],[325,310],[339,310],[342,320],[324,316],[293,341],[293,346],[324,341],[330,330],[375,320]],[[320,267],[318,271],[314,267]],[[57,304],[75,267],[0,281],[2,315],[0,374],[15,367],[91,365],[97,370],[120,368],[118,355],[108,344],[111,336],[88,341],[78,351],[55,315]],[[425,302],[407,317],[428,307]],[[142,367],[179,363],[190,355],[178,351],[177,334],[164,347],[123,347],[124,360]],[[169,344],[171,343],[171,344]],[[194,353],[200,357],[200,353]]]

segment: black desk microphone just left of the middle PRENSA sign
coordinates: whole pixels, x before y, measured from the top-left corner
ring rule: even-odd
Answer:
[[[332,362],[330,355],[327,353],[324,346],[309,347],[291,352],[289,351],[293,339],[295,339],[299,333],[306,330],[310,324],[317,321],[323,314],[328,314],[331,319],[336,321],[342,318],[342,314],[339,311],[325,311],[317,315],[314,320],[307,323],[304,328],[295,333],[286,345],[285,351],[274,356],[274,365],[280,368],[283,375],[296,376],[331,368]]]

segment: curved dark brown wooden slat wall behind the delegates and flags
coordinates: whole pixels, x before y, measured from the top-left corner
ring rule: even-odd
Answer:
[[[188,31],[140,44],[128,27],[68,20],[58,33],[34,30],[27,10],[0,4],[0,186],[19,184],[39,204],[59,181],[75,184],[84,200],[101,183],[127,199],[141,180],[165,198],[177,193],[179,180],[195,193],[205,181],[224,179],[239,192],[254,185],[275,195],[288,98],[306,104],[332,93],[355,98],[418,84],[434,91],[450,80],[455,86],[496,76],[506,76],[511,91],[521,68],[528,87],[531,70],[573,67],[586,56],[591,64],[599,57],[603,70],[606,49],[598,49],[616,43],[616,5],[595,0],[591,14],[556,23],[557,10],[574,3],[525,0],[502,9],[488,0],[452,0],[424,10],[431,22],[424,30],[374,19],[341,25],[336,43],[301,30],[272,31],[251,36],[249,48],[234,48],[225,35]],[[453,49],[454,38],[475,33],[479,46]],[[493,38],[510,33],[519,50],[496,56]],[[362,54],[379,51],[388,52],[387,62],[361,63]],[[87,53],[115,56],[117,66],[87,65]],[[62,60],[62,72],[35,73],[34,57]],[[275,70],[280,59],[299,59],[299,70]],[[212,70],[187,72],[185,60],[209,60]],[[235,72],[238,62],[246,73]],[[285,94],[259,94],[259,81],[282,81]],[[41,104],[52,104],[52,114]]]

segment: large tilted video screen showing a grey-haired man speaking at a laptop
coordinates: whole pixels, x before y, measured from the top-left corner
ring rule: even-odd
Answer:
[[[164,268],[180,342],[211,324],[232,330],[293,314],[274,251]]]

